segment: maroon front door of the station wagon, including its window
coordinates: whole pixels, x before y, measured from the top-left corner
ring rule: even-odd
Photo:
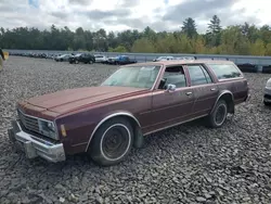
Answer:
[[[152,123],[143,129],[145,133],[190,118],[194,94],[192,88],[188,87],[183,67],[180,65],[166,67],[163,81],[153,92]],[[176,89],[167,90],[169,85],[175,85]]]

